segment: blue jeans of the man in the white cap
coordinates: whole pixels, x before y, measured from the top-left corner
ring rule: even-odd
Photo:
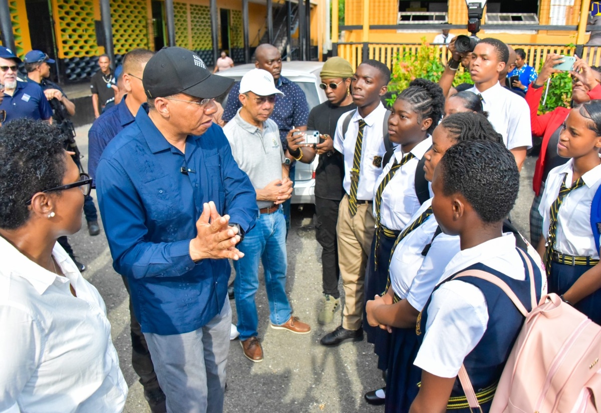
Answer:
[[[269,319],[281,325],[290,319],[292,309],[286,296],[286,223],[282,208],[273,214],[261,214],[237,248],[245,256],[234,261],[234,292],[240,340],[258,336],[255,294],[259,287],[259,259],[263,262],[265,288],[269,300]]]

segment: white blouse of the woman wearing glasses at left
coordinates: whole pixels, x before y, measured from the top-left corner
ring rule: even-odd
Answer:
[[[58,243],[52,255],[64,277],[0,237],[0,412],[121,412],[105,303]]]

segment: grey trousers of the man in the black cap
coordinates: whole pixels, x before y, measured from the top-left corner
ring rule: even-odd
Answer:
[[[230,300],[225,297],[221,313],[198,330],[170,336],[144,333],[167,413],[223,411],[230,326]]]

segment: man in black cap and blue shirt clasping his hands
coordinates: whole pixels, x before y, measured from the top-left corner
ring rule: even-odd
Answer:
[[[96,185],[113,267],[172,412],[221,412],[230,348],[227,299],[236,244],[258,216],[212,98],[233,81],[190,50],[164,47],[147,63],[148,98],[100,158]],[[199,218],[200,217],[200,218]]]

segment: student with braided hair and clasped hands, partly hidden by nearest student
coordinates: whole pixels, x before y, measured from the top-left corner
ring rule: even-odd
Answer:
[[[426,179],[432,182],[448,148],[469,140],[503,142],[485,116],[474,112],[449,115],[432,134],[432,148],[425,155]],[[372,404],[386,399],[386,412],[408,411],[417,394],[421,372],[413,367],[418,349],[415,322],[445,266],[459,252],[459,237],[441,233],[431,205],[432,198],[421,205],[395,243],[386,294],[367,302],[367,322],[392,330],[386,387],[365,396]]]

